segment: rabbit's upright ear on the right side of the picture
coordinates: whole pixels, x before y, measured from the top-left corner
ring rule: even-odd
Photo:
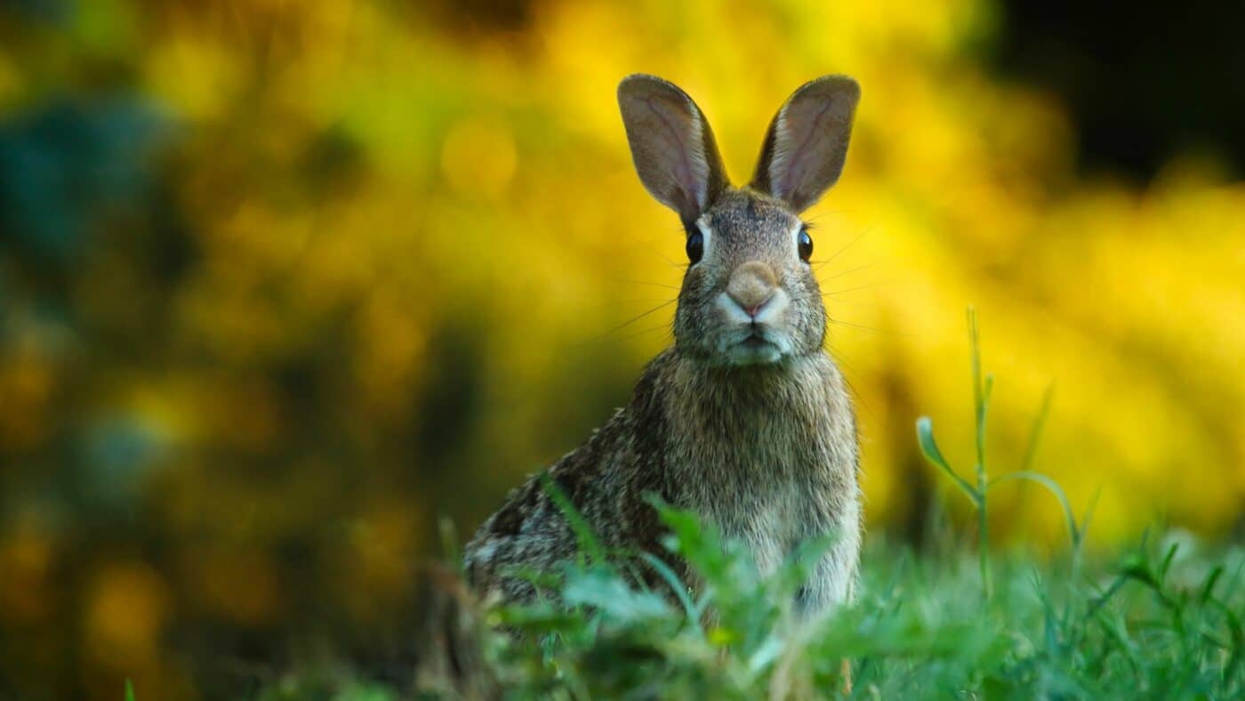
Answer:
[[[860,86],[823,76],[799,87],[774,115],[752,188],[803,212],[839,179]]]

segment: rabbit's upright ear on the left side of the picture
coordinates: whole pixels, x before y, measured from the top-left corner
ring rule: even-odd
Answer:
[[[727,187],[705,113],[676,85],[644,73],[619,83],[619,110],[644,187],[695,222]]]

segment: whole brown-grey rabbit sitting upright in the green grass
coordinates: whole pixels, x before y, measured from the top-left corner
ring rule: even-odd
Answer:
[[[802,542],[834,533],[793,606],[812,616],[852,598],[863,529],[855,417],[824,350],[827,313],[799,213],[838,181],[859,97],[847,76],[799,87],[771,122],[752,181],[735,188],[687,93],[650,75],[621,81],[640,181],[686,232],[675,341],[625,407],[547,477],[513,491],[467,544],[467,578],[482,596],[532,600],[517,570],[557,572],[576,555],[549,479],[603,545],[662,557],[692,586],[661,545],[646,494],[741,539],[762,575]]]

